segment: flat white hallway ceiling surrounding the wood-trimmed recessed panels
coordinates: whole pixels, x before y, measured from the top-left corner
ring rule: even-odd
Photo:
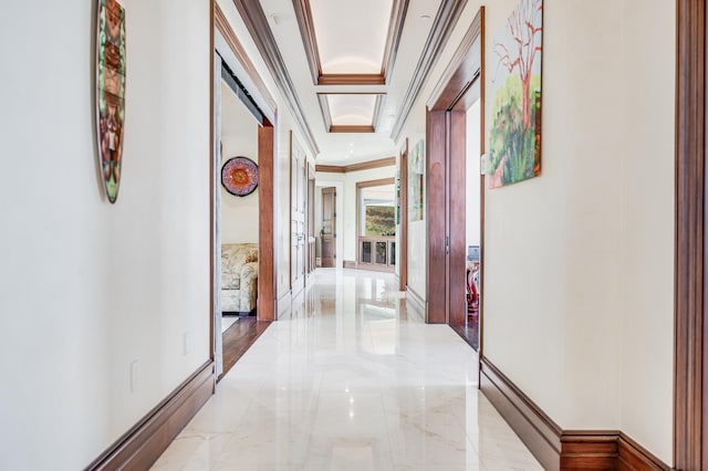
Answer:
[[[317,86],[312,80],[292,0],[261,0],[261,7],[302,103],[303,113],[320,147],[317,164],[352,165],[397,154],[396,144],[391,139],[391,130],[439,4],[439,0],[409,0],[388,84]],[[373,51],[376,50],[376,44],[381,43],[382,34],[385,38],[387,33],[391,6],[392,0],[311,0],[311,7],[315,10],[313,22],[323,67],[324,64],[336,64],[332,66],[340,73],[345,69],[346,72],[358,72],[354,69],[363,66],[364,63],[375,63],[375,71],[373,67],[366,71],[379,73],[382,60],[377,55],[379,53]],[[382,15],[382,11],[386,11],[386,14]],[[323,25],[322,33],[319,30],[320,25]],[[347,50],[351,52],[344,52]],[[337,54],[347,54],[346,57],[351,59],[346,67],[342,65],[344,62],[334,59]],[[329,133],[320,109],[317,93],[385,93],[386,100],[376,132]],[[334,121],[334,116],[332,117]]]

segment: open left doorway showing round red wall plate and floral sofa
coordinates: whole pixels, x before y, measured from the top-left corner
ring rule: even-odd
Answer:
[[[212,358],[216,364],[216,375],[220,379],[260,336],[268,326],[268,322],[273,321],[275,316],[275,264],[273,263],[275,133],[271,119],[274,119],[277,109],[275,102],[262,85],[260,77],[250,72],[254,69],[217,4],[215,4],[214,44],[210,317]],[[239,71],[242,78],[250,81],[251,90],[246,88],[243,82],[235,74],[235,70]],[[233,118],[233,116],[237,117]],[[238,129],[229,129],[233,126]],[[221,175],[226,164],[232,157],[248,158],[247,171],[256,169],[257,185],[243,191],[239,191],[238,188],[235,191],[227,190],[222,185]],[[229,169],[225,171],[228,174]],[[240,211],[238,214],[232,211],[237,207]],[[250,213],[244,216],[243,211],[254,212],[254,216]],[[244,220],[250,223],[244,224]],[[239,233],[235,232],[236,227],[241,229]],[[222,242],[254,245],[254,250],[239,262],[242,270],[250,273],[244,274],[248,278],[247,283],[241,287],[239,279],[238,287],[230,286],[231,292],[225,292],[222,287],[229,291],[229,283],[233,282],[232,275],[238,272],[241,276],[241,270],[235,268],[233,263],[233,263],[229,261],[230,273],[222,281]],[[239,300],[230,299],[236,297],[236,291],[239,291]],[[244,303],[246,308],[241,304],[229,305],[230,302],[236,301]],[[223,312],[231,317],[228,318],[231,324],[228,328],[222,323]],[[241,315],[235,316],[237,313]]]

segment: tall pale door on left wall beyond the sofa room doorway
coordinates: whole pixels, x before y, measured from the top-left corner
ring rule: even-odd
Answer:
[[[290,290],[298,294],[305,285],[306,192],[305,153],[290,132]]]

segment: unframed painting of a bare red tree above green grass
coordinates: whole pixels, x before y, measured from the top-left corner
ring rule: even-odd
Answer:
[[[492,42],[489,188],[541,175],[543,0],[521,0]]]

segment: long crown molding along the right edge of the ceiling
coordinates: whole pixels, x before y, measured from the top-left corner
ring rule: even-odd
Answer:
[[[391,133],[391,137],[394,142],[398,142],[400,139],[400,134],[403,133],[408,115],[413,109],[413,105],[418,100],[418,96],[420,96],[423,85],[433,72],[435,64],[440,57],[440,52],[445,48],[445,44],[447,44],[447,41],[457,24],[457,20],[459,20],[466,6],[467,0],[444,0],[440,3],[440,8],[435,15],[435,21],[433,22],[433,28],[430,29],[430,33],[426,40],[423,53],[420,54],[420,59],[416,65],[415,73],[413,74],[408,90],[403,98],[398,117],[394,123],[393,130]]]

